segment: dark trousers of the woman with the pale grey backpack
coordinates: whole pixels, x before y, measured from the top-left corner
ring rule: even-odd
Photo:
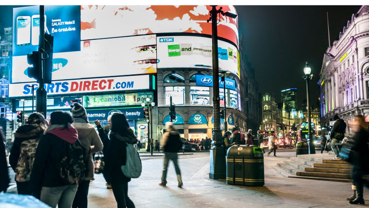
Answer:
[[[124,184],[112,183],[114,197],[118,208],[134,208],[134,203],[128,197],[128,182]]]

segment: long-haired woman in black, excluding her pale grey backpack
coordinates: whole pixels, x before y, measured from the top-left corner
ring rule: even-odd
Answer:
[[[109,137],[111,143],[105,157],[104,171],[112,179],[111,184],[118,208],[134,208],[134,203],[128,197],[128,182],[131,181],[131,178],[122,172],[121,167],[130,162],[127,161],[127,146],[136,144],[137,138],[123,113],[113,114],[110,123],[111,132]],[[134,151],[134,154],[138,154],[137,151]],[[137,158],[139,160],[139,157]]]

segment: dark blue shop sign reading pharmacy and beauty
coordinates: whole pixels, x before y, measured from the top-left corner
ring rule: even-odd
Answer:
[[[109,115],[115,113],[124,113],[127,119],[143,119],[144,110],[142,107],[134,108],[118,108],[118,109],[99,109],[99,110],[88,110],[86,109],[88,120],[108,120]]]

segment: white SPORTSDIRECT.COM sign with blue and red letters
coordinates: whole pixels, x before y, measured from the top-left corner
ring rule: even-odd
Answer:
[[[32,85],[37,90],[37,83],[9,84],[9,97],[32,96]],[[149,89],[150,75],[53,81],[44,87],[48,95]]]

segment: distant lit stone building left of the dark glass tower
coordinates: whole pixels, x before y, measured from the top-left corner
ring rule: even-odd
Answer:
[[[274,127],[277,130],[277,103],[275,98],[269,93],[263,95],[263,125],[260,130],[265,131],[266,127]]]

